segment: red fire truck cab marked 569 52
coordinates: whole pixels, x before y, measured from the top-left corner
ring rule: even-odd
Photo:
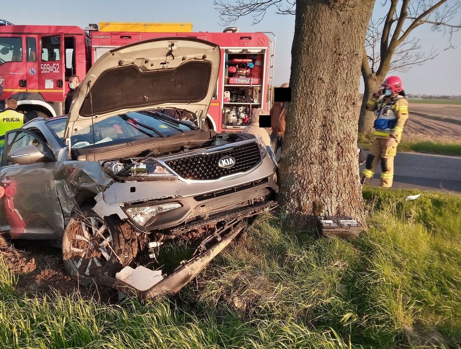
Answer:
[[[0,26],[1,100],[14,97],[29,120],[64,114],[66,81],[85,76],[90,45],[89,33],[77,26]]]

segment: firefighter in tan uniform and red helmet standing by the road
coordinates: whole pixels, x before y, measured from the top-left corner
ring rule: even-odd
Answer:
[[[361,183],[364,184],[373,178],[381,160],[380,186],[389,188],[394,178],[397,144],[408,119],[408,101],[402,88],[402,80],[398,76],[389,76],[384,80],[381,88],[373,93],[366,103],[366,110],[375,113],[375,140],[366,158],[366,169],[362,172]]]

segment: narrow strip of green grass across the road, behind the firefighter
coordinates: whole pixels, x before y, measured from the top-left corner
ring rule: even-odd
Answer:
[[[403,138],[397,146],[397,151],[410,151],[426,154],[461,156],[461,143],[450,140],[419,140],[421,138]],[[359,134],[359,143],[369,150],[374,137],[369,134]]]

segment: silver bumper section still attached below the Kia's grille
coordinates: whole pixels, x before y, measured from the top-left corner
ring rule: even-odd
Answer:
[[[267,201],[278,192],[276,168],[266,157],[258,169],[226,180],[201,183],[200,181],[139,181],[113,183],[96,197],[93,210],[100,217],[118,215],[129,221],[139,232],[174,231],[191,221],[229,211],[236,207],[253,206]],[[154,218],[140,224],[130,215],[131,210],[143,210],[163,205],[178,208],[157,213]]]

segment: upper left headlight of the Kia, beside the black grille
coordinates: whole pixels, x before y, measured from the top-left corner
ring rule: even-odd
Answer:
[[[139,161],[137,159],[106,161],[102,164],[102,168],[109,175],[124,179],[177,179],[176,175],[152,157]]]

